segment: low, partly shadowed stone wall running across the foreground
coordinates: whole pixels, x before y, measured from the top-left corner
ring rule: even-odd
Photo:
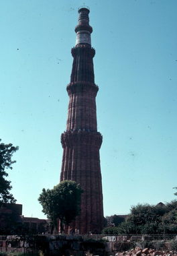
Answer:
[[[0,252],[7,253],[38,253],[42,251],[45,256],[84,256],[84,255],[115,255],[117,252],[126,252],[136,246],[141,249],[156,249],[164,245],[170,250],[176,235],[139,235],[139,236],[68,236],[68,235],[34,235],[34,236],[0,236]],[[154,255],[153,255],[154,256]]]

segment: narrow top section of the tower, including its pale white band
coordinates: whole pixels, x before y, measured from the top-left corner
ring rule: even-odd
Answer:
[[[89,12],[90,10],[86,6],[78,8],[78,25],[75,28],[76,46],[78,44],[91,46],[91,33],[93,32],[93,28],[89,25]]]

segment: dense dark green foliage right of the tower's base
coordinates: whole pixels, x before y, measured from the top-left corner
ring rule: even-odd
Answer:
[[[138,204],[117,227],[103,229],[103,234],[175,234],[177,233],[177,201],[158,205]]]

